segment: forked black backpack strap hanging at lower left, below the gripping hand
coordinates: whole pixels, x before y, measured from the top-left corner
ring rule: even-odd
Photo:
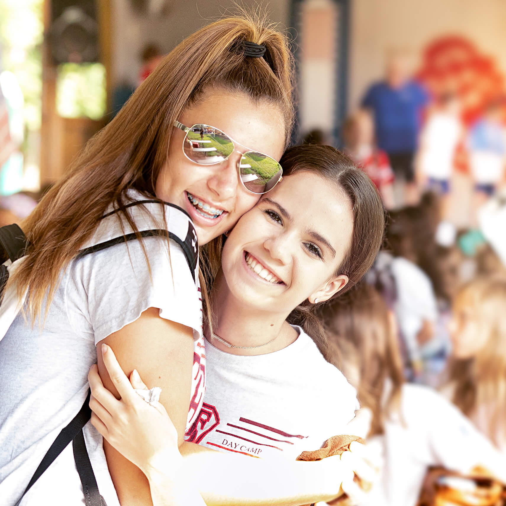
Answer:
[[[35,473],[28,483],[23,495],[19,498],[16,506],[21,502],[26,492],[30,490],[32,485],[43,475],[43,473],[51,466],[56,457],[67,447],[71,441],[77,439],[77,443],[73,445],[74,460],[77,466],[77,472],[85,491],[86,506],[106,506],[104,498],[98,491],[97,481],[93,474],[90,458],[86,451],[85,439],[82,434],[82,428],[88,423],[91,417],[91,409],[89,406],[91,391],[88,391],[86,400],[79,409],[79,412],[70,420],[69,424],[64,427],[58,437],[53,441],[44,458],[38,465]],[[82,458],[82,453],[86,454],[86,458]],[[98,502],[97,502],[98,501]]]

